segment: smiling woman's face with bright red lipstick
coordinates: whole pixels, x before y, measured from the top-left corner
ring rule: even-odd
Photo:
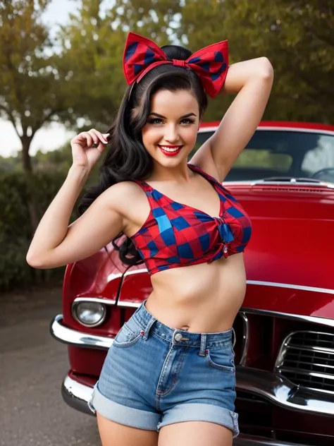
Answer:
[[[177,167],[187,162],[199,128],[199,104],[187,90],[159,90],[151,99],[142,141],[154,162]]]

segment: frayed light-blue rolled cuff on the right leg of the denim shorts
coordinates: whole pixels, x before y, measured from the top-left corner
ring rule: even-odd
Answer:
[[[233,431],[233,438],[239,435],[237,414],[221,406],[214,404],[178,404],[173,409],[168,409],[160,423],[158,431],[168,424],[183,423],[184,421],[207,421],[216,423]]]

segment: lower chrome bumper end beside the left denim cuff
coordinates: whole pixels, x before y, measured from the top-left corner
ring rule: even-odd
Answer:
[[[61,385],[61,396],[68,406],[73,407],[84,414],[93,415],[88,407],[89,399],[92,397],[93,389],[73,380],[68,375],[63,379]]]

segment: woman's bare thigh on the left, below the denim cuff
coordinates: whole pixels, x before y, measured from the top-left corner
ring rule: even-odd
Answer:
[[[97,414],[97,426],[102,446],[157,446],[158,432],[130,428]]]

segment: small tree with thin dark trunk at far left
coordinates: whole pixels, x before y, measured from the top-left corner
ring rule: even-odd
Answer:
[[[49,32],[41,23],[48,3],[0,1],[0,116],[11,121],[22,144],[33,229],[39,217],[31,186],[30,144],[39,128],[68,108],[56,69],[58,58],[50,54]]]

